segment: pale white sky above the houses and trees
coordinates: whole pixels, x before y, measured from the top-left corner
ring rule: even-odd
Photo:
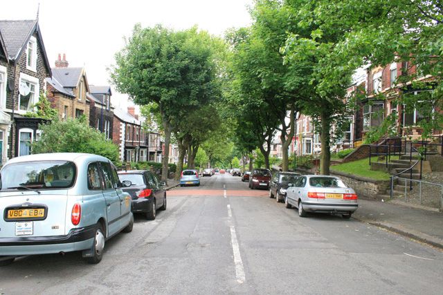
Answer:
[[[106,68],[132,34],[134,24],[157,23],[174,30],[197,25],[212,35],[251,23],[253,0],[1,0],[0,19],[35,19],[51,67],[66,54],[70,67],[86,68],[89,84],[110,85]],[[125,109],[127,95],[112,87],[112,104]]]

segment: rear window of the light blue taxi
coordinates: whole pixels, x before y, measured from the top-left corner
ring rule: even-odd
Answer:
[[[75,164],[67,161],[35,161],[9,164],[0,174],[0,190],[66,189],[75,182]]]

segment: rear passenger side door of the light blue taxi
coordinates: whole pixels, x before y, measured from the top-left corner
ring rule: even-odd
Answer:
[[[107,162],[100,162],[103,175],[103,196],[106,200],[109,236],[120,230],[120,197],[114,188],[111,166]]]

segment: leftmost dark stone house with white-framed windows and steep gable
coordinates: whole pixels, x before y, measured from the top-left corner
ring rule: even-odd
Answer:
[[[30,153],[45,120],[25,117],[46,91],[51,66],[38,20],[0,21],[0,157]]]

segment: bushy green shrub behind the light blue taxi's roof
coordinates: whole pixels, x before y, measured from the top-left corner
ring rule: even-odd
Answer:
[[[54,120],[40,129],[42,136],[31,144],[33,153],[93,153],[120,165],[118,146],[86,120]]]

